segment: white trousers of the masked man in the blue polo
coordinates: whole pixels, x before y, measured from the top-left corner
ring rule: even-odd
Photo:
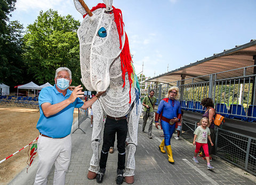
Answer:
[[[47,176],[55,164],[53,184],[65,184],[66,172],[71,157],[70,134],[61,139],[47,138],[39,135],[38,141],[38,170],[34,185],[47,184]]]

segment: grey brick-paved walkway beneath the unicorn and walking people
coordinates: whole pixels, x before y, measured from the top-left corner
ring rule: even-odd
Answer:
[[[134,184],[256,184],[255,176],[238,169],[237,167],[214,157],[211,165],[213,171],[207,170],[206,162],[199,159],[199,164],[192,161],[195,146],[185,139],[171,139],[175,164],[168,162],[167,154],[162,154],[158,146],[163,138],[161,130],[153,125],[153,139],[147,133],[141,133],[142,119],[139,124],[138,146],[135,153],[136,170]],[[81,124],[86,132],[77,130],[72,136],[71,164],[66,175],[66,184],[98,184],[96,180],[87,179],[87,172],[92,156],[90,119]],[[146,126],[146,130],[148,125]],[[176,134],[173,134],[173,137]],[[100,148],[102,147],[102,141]],[[116,144],[115,144],[116,149]],[[35,163],[36,164],[36,163]],[[33,184],[36,166],[29,174],[21,173],[10,184]],[[117,150],[108,155],[107,169],[102,184],[116,184]],[[47,184],[53,184],[52,169]],[[247,174],[247,175],[246,175]],[[28,178],[26,180],[26,178]],[[23,179],[25,182],[21,182]],[[123,184],[126,184],[125,182]]]

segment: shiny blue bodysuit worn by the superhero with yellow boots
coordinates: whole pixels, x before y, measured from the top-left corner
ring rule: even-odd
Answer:
[[[170,98],[164,98],[159,103],[157,113],[159,115],[166,117],[167,119],[173,119],[178,117],[178,114],[181,114],[180,102],[178,100],[172,100]],[[164,145],[171,145],[171,137],[175,130],[175,123],[170,125],[169,123],[161,119],[161,126],[164,131]]]

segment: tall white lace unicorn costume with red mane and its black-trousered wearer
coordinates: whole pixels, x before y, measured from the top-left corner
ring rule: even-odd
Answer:
[[[109,148],[113,147],[112,141],[117,134],[116,183],[122,184],[124,179],[126,183],[134,182],[134,156],[142,105],[122,11],[112,6],[112,3],[113,0],[103,0],[103,3],[90,10],[83,0],[74,0],[77,11],[84,18],[77,30],[81,81],[87,90],[106,91],[92,105],[93,154],[87,178],[96,178],[98,183],[103,181]],[[103,124],[105,116],[107,118]],[[103,144],[100,148],[102,129]]]

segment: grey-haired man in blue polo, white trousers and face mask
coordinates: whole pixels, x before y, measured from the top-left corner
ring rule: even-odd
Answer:
[[[65,184],[66,172],[71,156],[71,126],[74,108],[90,107],[103,93],[99,92],[91,100],[83,102],[81,85],[73,91],[68,90],[71,84],[71,71],[58,68],[55,72],[55,85],[45,87],[39,94],[40,117],[36,128],[39,130],[38,170],[34,184],[46,184],[47,176],[55,164],[53,184]]]

